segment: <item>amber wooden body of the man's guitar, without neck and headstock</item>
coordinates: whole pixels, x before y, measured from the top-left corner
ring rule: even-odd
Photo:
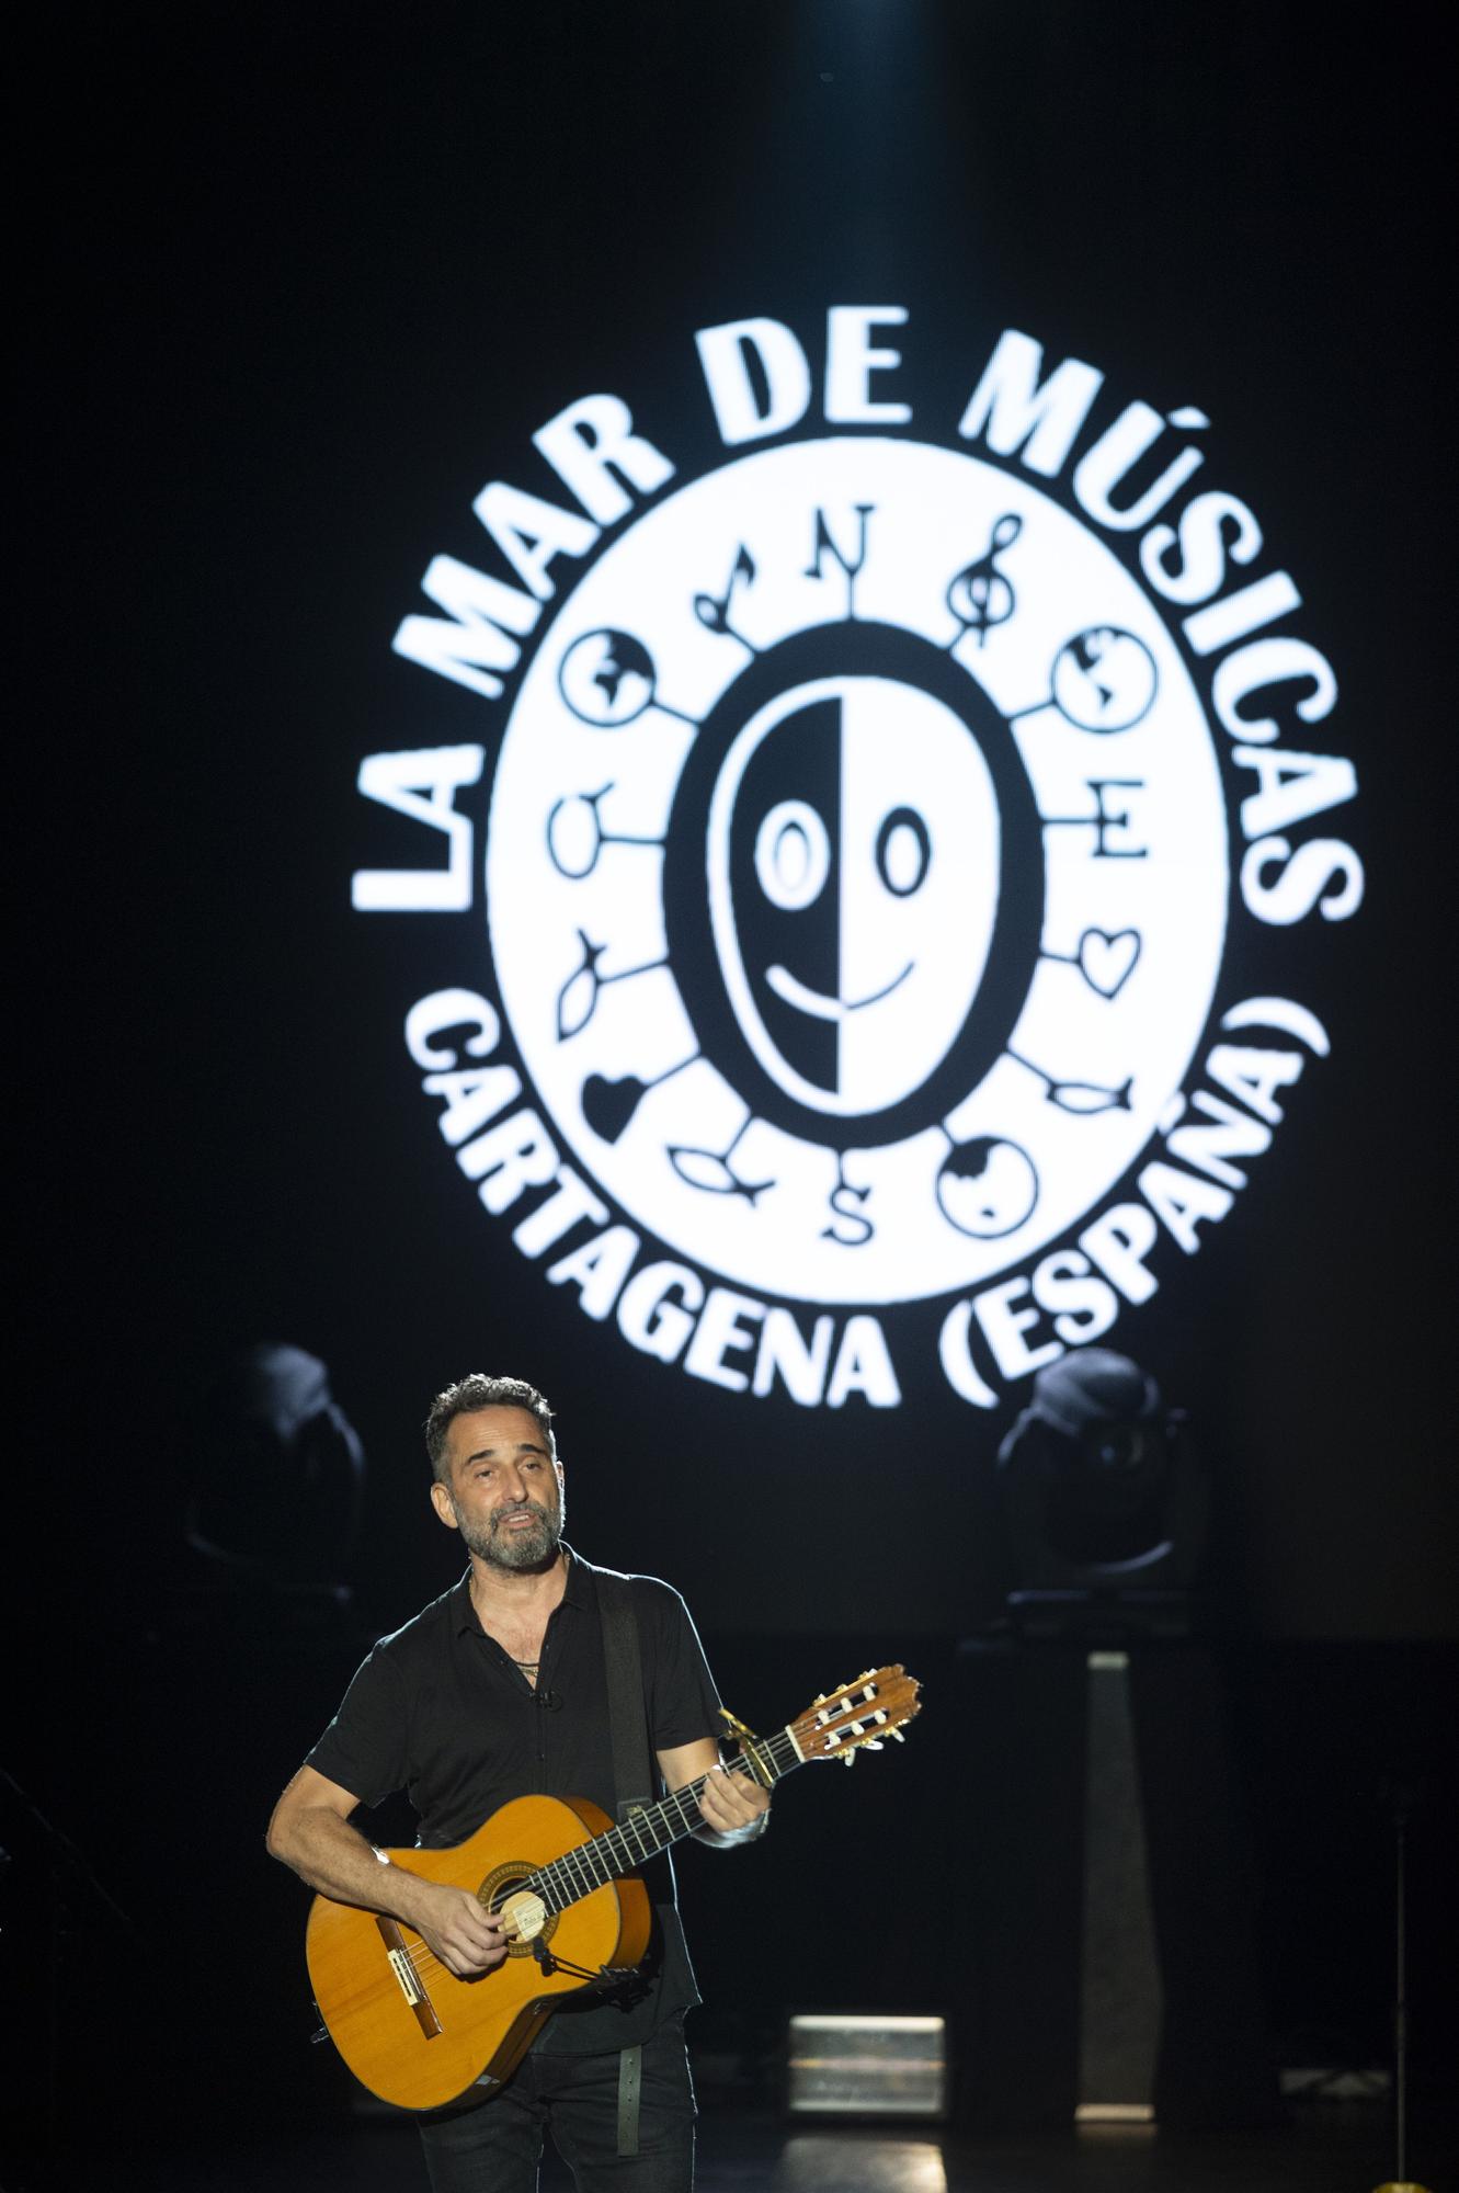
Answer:
[[[517,1882],[611,1827],[587,1798],[519,1796],[449,1851],[388,1851],[390,1864],[469,1888],[499,1908]],[[499,2086],[563,1996],[591,1987],[548,1958],[598,1972],[637,1965],[653,1910],[635,1877],[605,1882],[552,1912],[539,1943],[515,1941],[506,1963],[458,1980],[407,1925],[315,1897],[305,1952],[313,1998],[340,2055],[372,2094],[403,2110],[436,2110],[478,2079]],[[414,2000],[412,2000],[414,1996]],[[493,2088],[482,2086],[482,2099]]]

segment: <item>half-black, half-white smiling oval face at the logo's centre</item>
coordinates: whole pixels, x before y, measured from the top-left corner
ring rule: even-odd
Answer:
[[[786,1096],[868,1114],[942,1064],[999,895],[999,807],[951,708],[865,675],[776,695],[725,752],[705,873],[725,991]]]

